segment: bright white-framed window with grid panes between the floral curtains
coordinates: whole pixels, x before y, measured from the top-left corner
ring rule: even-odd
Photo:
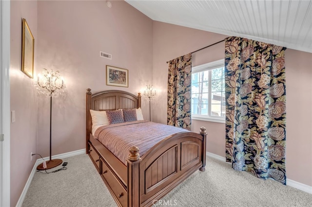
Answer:
[[[224,59],[192,68],[192,119],[225,123]]]

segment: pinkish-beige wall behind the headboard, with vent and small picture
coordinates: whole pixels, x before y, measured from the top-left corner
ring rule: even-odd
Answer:
[[[38,68],[60,70],[67,87],[66,97],[53,98],[53,155],[85,148],[86,88],[137,94],[152,81],[152,30],[152,20],[125,1],[112,8],[105,1],[38,1]],[[106,86],[106,65],[128,69],[129,87]],[[38,152],[47,156],[48,147],[49,98],[40,97]]]

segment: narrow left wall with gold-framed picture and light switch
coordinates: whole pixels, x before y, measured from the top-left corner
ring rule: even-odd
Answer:
[[[28,176],[38,157],[30,160],[36,152],[37,99],[33,79],[21,71],[21,25],[25,18],[35,38],[35,74],[37,68],[37,2],[11,1],[10,29],[10,108],[16,112],[11,123],[11,206],[20,198]]]

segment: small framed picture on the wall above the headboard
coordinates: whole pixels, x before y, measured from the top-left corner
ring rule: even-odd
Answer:
[[[106,65],[106,85],[128,87],[128,70]]]

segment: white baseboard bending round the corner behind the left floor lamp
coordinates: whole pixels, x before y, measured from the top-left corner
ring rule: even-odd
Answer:
[[[63,153],[63,154],[59,154],[59,155],[53,155],[51,158],[52,159],[63,159],[63,158],[66,158],[66,157],[71,157],[71,156],[75,156],[75,155],[81,155],[81,154],[84,154],[86,151],[86,149],[81,149],[81,150],[76,150],[76,151],[73,151],[73,152],[69,152],[69,153]],[[43,157],[43,159],[45,161],[48,161],[50,159],[50,157]],[[21,192],[20,194],[20,199],[18,200],[18,203],[16,204],[16,207],[21,207],[23,202],[24,202],[24,199],[25,199],[25,196],[26,196],[26,193],[27,193],[27,190],[30,186],[30,183],[31,181],[33,180],[33,177],[37,171],[37,166],[39,164],[41,164],[43,161],[41,158],[37,159],[36,160],[36,163],[34,164],[34,167],[33,167],[33,170],[31,171],[29,177],[28,177],[28,180],[25,184],[25,187],[23,189],[23,191]]]

